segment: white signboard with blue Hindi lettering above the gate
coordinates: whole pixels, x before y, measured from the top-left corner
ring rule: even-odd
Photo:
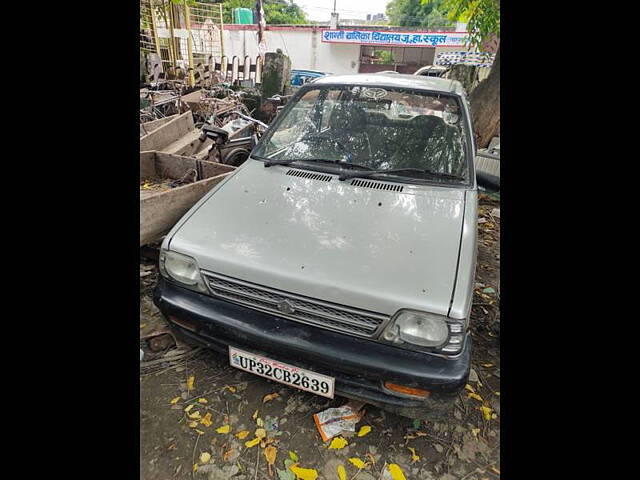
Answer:
[[[376,30],[324,30],[326,43],[390,45],[394,47],[464,47],[467,32],[390,32]]]

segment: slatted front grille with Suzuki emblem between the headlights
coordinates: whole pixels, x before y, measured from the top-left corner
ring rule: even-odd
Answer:
[[[373,337],[389,318],[388,315],[300,297],[217,273],[203,271],[202,274],[211,293],[217,297],[329,330]],[[283,312],[278,308],[285,300],[292,310]]]

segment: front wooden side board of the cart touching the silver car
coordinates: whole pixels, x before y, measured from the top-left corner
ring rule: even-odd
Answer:
[[[166,235],[198,200],[228,175],[231,172],[141,198],[140,246]]]

